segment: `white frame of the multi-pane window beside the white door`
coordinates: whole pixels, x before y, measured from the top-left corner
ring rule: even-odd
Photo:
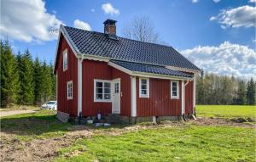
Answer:
[[[102,99],[97,99],[96,98],[96,82],[102,82]],[[105,88],[105,83],[108,82],[110,84],[110,98],[109,99],[104,99],[104,88]],[[109,80],[94,80],[94,102],[104,102],[104,103],[109,103],[112,102],[112,81]]]

